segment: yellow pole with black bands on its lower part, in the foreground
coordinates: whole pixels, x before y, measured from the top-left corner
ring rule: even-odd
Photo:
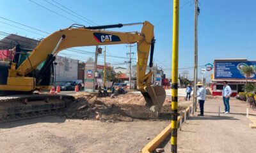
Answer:
[[[177,153],[178,128],[178,66],[179,66],[179,0],[173,0],[173,33],[172,33],[172,136],[171,152]]]

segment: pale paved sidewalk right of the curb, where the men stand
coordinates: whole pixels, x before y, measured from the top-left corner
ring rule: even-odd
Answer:
[[[246,119],[245,102],[230,99],[230,114],[220,114],[218,106],[223,111],[221,98],[205,101],[205,116],[190,117],[178,132],[178,152],[256,152],[256,129],[249,127]],[[249,108],[251,116],[256,111]],[[254,114],[253,114],[254,113]],[[197,115],[197,113],[195,113]],[[170,152],[171,145],[167,143],[165,152]]]

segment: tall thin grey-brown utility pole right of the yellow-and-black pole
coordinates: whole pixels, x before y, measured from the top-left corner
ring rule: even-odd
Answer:
[[[193,90],[193,110],[192,113],[196,112],[196,83],[197,83],[197,73],[198,73],[198,48],[197,48],[197,18],[199,15],[199,8],[198,8],[198,0],[195,0],[195,61],[194,61],[194,90]]]

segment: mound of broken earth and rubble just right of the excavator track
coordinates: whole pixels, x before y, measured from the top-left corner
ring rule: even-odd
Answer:
[[[60,115],[65,115],[69,119],[96,119],[103,122],[132,121],[132,118],[119,106],[105,105],[101,101],[97,101],[97,96],[93,96],[89,100],[85,97],[77,98]]]

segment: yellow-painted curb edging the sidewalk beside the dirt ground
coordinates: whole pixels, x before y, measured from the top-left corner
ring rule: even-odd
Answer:
[[[192,106],[192,104],[189,107],[191,107],[191,106]],[[187,114],[189,112],[189,107],[186,108]],[[184,113],[182,113],[182,118],[184,118]],[[178,117],[177,122],[178,122],[178,128],[179,128],[180,116]],[[162,143],[163,140],[168,135],[170,135],[171,131],[172,131],[172,126],[171,126],[171,124],[169,124],[153,140],[151,140],[149,143],[147,143],[147,145],[145,145],[145,147],[143,147],[141,152],[142,153],[150,153],[150,152],[153,152],[154,150],[156,150],[156,148],[160,145],[160,143]]]

